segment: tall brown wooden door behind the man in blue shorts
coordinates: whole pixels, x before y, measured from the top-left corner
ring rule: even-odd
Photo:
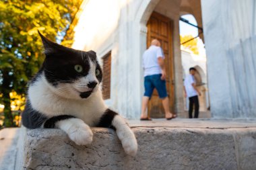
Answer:
[[[173,57],[172,57],[172,20],[160,13],[153,12],[148,24],[147,47],[150,46],[153,39],[158,39],[161,48],[164,51],[164,65],[166,68],[166,89],[170,101],[170,112],[174,112],[174,73],[173,73]],[[148,106],[148,113],[152,118],[164,118],[164,108],[162,100],[159,98],[156,89]]]

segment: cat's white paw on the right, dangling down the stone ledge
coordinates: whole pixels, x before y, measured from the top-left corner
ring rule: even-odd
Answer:
[[[137,140],[133,133],[127,136],[129,137],[121,141],[123,145],[123,149],[125,150],[125,153],[127,153],[127,155],[131,155],[134,157],[137,154],[137,147],[138,147]]]

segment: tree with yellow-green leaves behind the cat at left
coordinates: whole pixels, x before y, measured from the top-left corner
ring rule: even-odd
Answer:
[[[0,1],[0,94],[5,127],[13,126],[9,93],[26,93],[42,61],[37,31],[61,42],[82,0]]]

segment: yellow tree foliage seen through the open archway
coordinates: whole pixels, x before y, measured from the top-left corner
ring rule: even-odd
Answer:
[[[181,38],[181,44],[184,48],[187,48],[191,50],[194,54],[199,54],[198,46],[197,46],[197,38],[191,40],[193,38],[192,35],[185,35],[185,36],[180,36]],[[187,42],[188,40],[191,40]],[[185,44],[183,44],[186,42]]]

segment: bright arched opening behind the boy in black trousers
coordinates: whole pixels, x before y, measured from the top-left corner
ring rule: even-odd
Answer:
[[[211,118],[210,98],[207,88],[207,58],[203,44],[203,28],[191,14],[181,15],[180,22],[181,58],[183,81],[189,75],[189,68],[194,67],[196,87],[201,92],[199,98],[199,118]],[[189,110],[189,99],[183,97],[185,112]]]

